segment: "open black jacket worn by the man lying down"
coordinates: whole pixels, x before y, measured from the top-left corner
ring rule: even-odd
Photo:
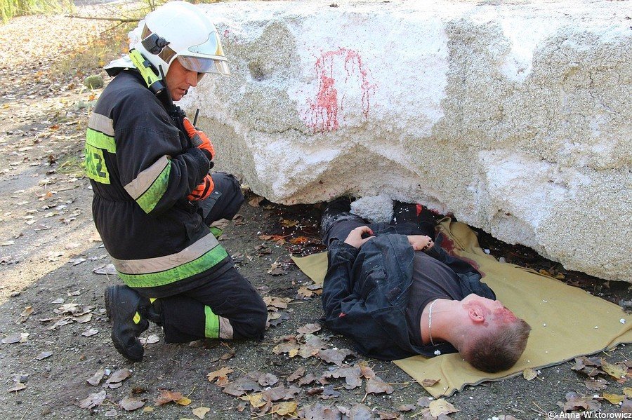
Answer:
[[[440,234],[441,236],[441,234]],[[444,262],[459,277],[463,295],[496,295],[480,281],[467,262],[440,248],[441,237],[428,255]],[[371,358],[394,360],[436,350],[454,353],[449,343],[415,346],[406,322],[408,291],[412,284],[414,250],[405,235],[376,233],[360,249],[342,241],[329,245],[329,268],[324,278],[322,304],[332,330],[355,341],[356,349]]]

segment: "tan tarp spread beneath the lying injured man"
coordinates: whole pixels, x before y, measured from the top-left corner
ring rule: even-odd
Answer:
[[[483,273],[483,281],[505,306],[527,320],[532,332],[518,363],[511,370],[497,374],[475,370],[459,353],[395,360],[397,366],[420,384],[423,379],[440,379],[434,386],[425,387],[434,397],[452,395],[466,385],[515,376],[527,367],[558,365],[579,355],[632,342],[632,316],[616,304],[555,278],[496,261],[483,252],[475,233],[466,224],[446,218],[439,226],[452,241],[446,241],[444,246],[454,245],[456,255],[475,262]],[[327,271],[326,253],[293,259],[315,283],[322,284]]]

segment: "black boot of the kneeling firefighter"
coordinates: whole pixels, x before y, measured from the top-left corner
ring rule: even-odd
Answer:
[[[149,327],[144,315],[147,306],[149,299],[141,297],[131,287],[116,285],[105,289],[105,313],[112,320],[112,343],[132,362],[143,360],[145,348],[138,336]]]

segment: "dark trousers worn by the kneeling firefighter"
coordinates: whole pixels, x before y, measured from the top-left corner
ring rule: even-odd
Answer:
[[[232,219],[244,202],[239,182],[232,175],[216,172],[211,175],[213,193],[200,203],[204,222]],[[263,339],[268,309],[235,266],[208,283],[186,292],[159,299],[162,306],[164,338],[168,343],[184,343],[209,337],[211,316],[230,322],[233,339]]]

